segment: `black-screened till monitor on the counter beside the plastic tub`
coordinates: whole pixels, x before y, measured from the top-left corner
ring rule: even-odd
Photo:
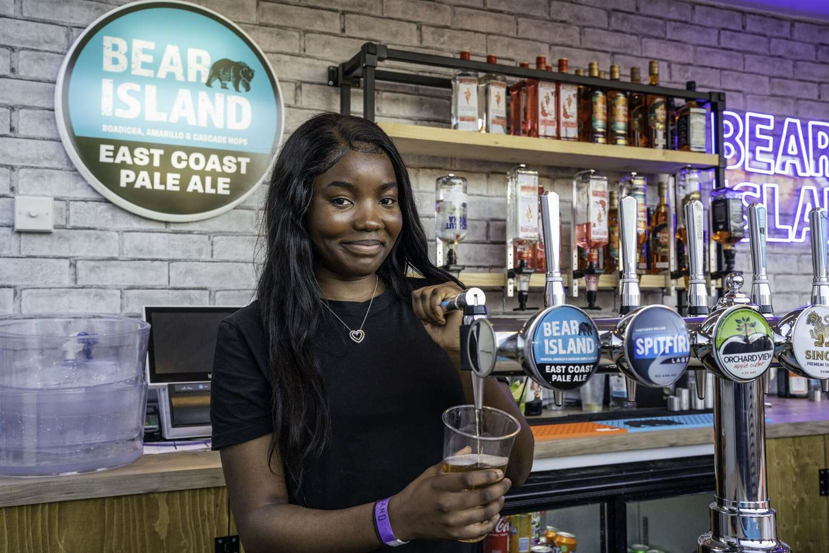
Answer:
[[[238,307],[144,306],[150,323],[147,381],[158,390],[165,439],[211,435],[210,380],[216,332]]]

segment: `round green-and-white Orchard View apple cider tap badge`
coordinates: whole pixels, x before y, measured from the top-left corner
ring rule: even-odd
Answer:
[[[754,380],[771,365],[772,336],[763,315],[751,308],[732,308],[720,317],[714,329],[717,366],[734,381]]]

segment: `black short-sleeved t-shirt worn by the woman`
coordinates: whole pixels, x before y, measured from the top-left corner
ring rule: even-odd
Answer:
[[[368,302],[328,304],[355,330],[368,308]],[[301,487],[289,492],[303,507],[342,509],[400,492],[439,463],[441,415],[465,399],[452,362],[414,316],[410,299],[390,289],[374,298],[359,344],[323,311],[314,341],[327,385],[332,441],[308,464]],[[213,449],[273,431],[268,360],[258,301],[221,321],[211,386]],[[458,541],[412,541],[397,551],[470,550]]]

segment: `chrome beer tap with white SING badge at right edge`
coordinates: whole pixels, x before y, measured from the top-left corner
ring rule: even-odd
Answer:
[[[777,357],[789,371],[817,378],[829,391],[829,280],[827,280],[827,210],[809,212],[812,235],[812,303],[783,315]]]

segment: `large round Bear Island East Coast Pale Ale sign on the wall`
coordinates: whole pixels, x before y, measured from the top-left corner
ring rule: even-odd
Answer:
[[[197,221],[232,209],[269,170],[279,82],[234,23],[187,2],[133,2],[88,27],[55,92],[66,152],[138,215]]]

